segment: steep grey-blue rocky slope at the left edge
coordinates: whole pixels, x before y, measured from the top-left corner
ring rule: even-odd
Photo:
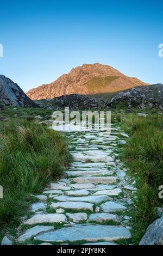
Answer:
[[[9,78],[0,75],[0,105],[2,106],[26,106],[32,107],[36,104],[29,99],[23,90]]]

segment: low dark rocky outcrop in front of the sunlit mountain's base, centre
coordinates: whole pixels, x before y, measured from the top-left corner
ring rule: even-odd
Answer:
[[[80,94],[62,95],[55,97],[52,100],[35,101],[40,107],[51,109],[62,109],[70,107],[70,109],[103,109],[109,108],[109,103],[106,101],[98,101],[94,97],[84,96]]]

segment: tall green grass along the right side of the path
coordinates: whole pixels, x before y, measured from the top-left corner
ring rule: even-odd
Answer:
[[[163,182],[163,120],[158,115],[129,120],[132,120],[131,137],[122,156],[138,178],[134,235],[135,242],[139,242],[157,217],[155,207],[162,204],[158,194]]]

